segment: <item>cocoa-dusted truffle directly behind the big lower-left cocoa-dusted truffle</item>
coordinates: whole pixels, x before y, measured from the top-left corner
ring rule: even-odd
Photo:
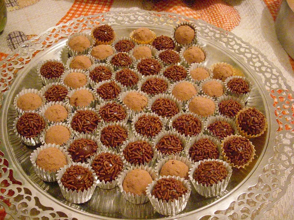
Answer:
[[[46,131],[45,142],[47,144],[63,145],[71,136],[68,128],[62,125],[55,125]]]

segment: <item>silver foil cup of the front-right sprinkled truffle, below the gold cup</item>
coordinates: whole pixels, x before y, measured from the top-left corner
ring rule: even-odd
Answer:
[[[225,177],[225,179],[223,179],[222,181],[218,181],[217,183],[214,183],[212,186],[206,186],[205,184],[199,184],[198,181],[195,181],[195,179],[193,178],[193,174],[194,171],[198,168],[198,165],[201,163],[204,163],[206,161],[218,161],[220,163],[223,163],[223,165],[225,166],[225,169],[228,172],[227,177]],[[230,181],[230,177],[232,175],[232,167],[226,163],[223,160],[215,160],[215,159],[208,159],[208,160],[200,160],[196,163],[194,163],[192,165],[192,168],[189,171],[189,177],[190,180],[196,190],[196,192],[198,192],[200,195],[204,196],[204,197],[216,197],[218,195],[220,195],[221,193],[223,193],[226,189],[226,187],[228,186],[228,183]]]

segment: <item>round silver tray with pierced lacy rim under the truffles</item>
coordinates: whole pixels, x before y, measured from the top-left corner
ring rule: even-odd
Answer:
[[[246,105],[256,106],[268,120],[267,132],[251,140],[257,155],[253,163],[234,170],[226,191],[218,197],[208,199],[193,189],[186,208],[176,216],[159,215],[150,202],[131,204],[123,199],[118,187],[111,190],[97,187],[91,200],[84,204],[67,202],[57,183],[43,182],[36,176],[29,160],[34,148],[23,145],[14,133],[15,95],[24,88],[42,87],[36,70],[38,63],[62,58],[66,38],[74,32],[89,33],[93,26],[108,23],[118,38],[141,26],[157,35],[171,35],[173,26],[181,21],[195,23],[198,42],[208,51],[205,65],[228,62],[253,82]],[[0,209],[5,208],[7,219],[260,219],[285,194],[294,175],[291,144],[294,138],[288,116],[292,101],[286,79],[258,49],[204,21],[154,11],[85,16],[52,27],[24,43],[0,66],[4,66],[0,78],[0,101],[4,98],[0,113]],[[1,200],[3,197],[9,199],[10,206]]]

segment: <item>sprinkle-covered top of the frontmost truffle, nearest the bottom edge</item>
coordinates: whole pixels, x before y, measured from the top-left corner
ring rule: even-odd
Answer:
[[[158,200],[162,199],[166,202],[170,200],[173,202],[174,199],[178,199],[186,192],[188,192],[188,189],[180,180],[173,178],[162,178],[157,180],[151,195],[154,195]]]

